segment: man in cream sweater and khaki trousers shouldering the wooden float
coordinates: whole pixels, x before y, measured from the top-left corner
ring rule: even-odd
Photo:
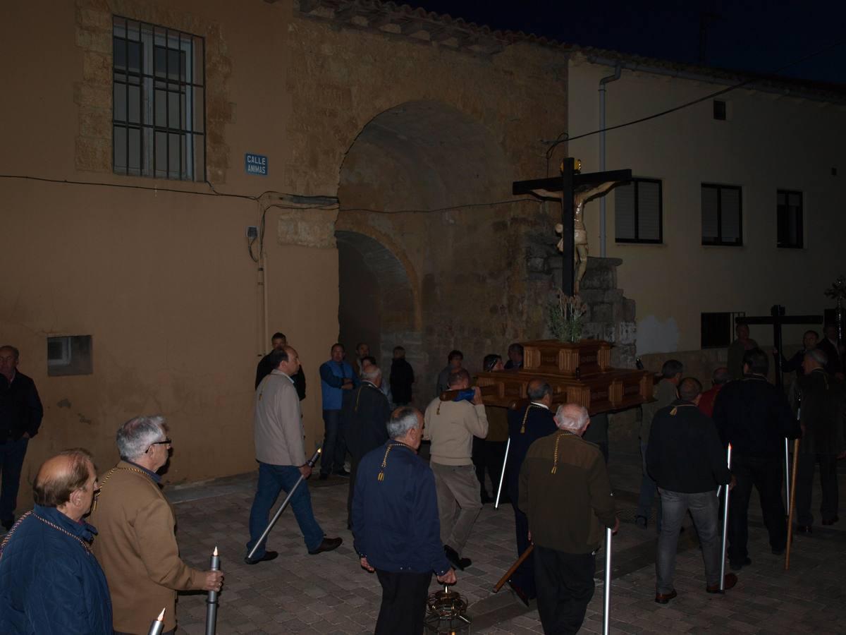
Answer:
[[[448,381],[450,390],[469,389],[470,373],[462,368]],[[423,438],[431,440],[430,465],[435,473],[443,550],[448,560],[464,571],[472,562],[461,553],[481,511],[479,482],[471,458],[473,437],[487,436],[487,417],[479,389],[474,389],[472,403],[435,397],[426,408],[423,430]]]

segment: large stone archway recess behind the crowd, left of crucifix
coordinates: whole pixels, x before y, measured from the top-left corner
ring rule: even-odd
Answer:
[[[497,135],[443,102],[377,114],[344,157],[341,333],[349,345],[369,339],[371,348],[378,338],[382,363],[404,345],[419,405],[434,395],[450,349],[464,351],[476,370],[487,352],[504,352],[522,323],[525,294],[515,283],[525,279],[524,247],[509,233],[521,209],[484,205],[508,200],[513,176]],[[356,296],[380,307],[377,329],[355,315]]]

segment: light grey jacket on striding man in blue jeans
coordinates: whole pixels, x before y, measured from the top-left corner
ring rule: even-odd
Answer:
[[[294,381],[280,370],[255,389],[255,459],[271,465],[305,464],[305,432]]]

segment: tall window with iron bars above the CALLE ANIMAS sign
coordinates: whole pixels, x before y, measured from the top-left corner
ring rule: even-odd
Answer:
[[[206,179],[203,38],[113,19],[113,168],[158,179]]]

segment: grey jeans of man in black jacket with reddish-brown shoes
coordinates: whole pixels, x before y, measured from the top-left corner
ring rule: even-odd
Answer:
[[[673,593],[678,532],[688,510],[690,516],[693,516],[696,532],[699,533],[699,542],[702,545],[706,584],[719,584],[722,544],[717,528],[719,500],[716,492],[687,494],[659,488],[658,494],[661,496],[662,520],[655,560],[656,592]]]

